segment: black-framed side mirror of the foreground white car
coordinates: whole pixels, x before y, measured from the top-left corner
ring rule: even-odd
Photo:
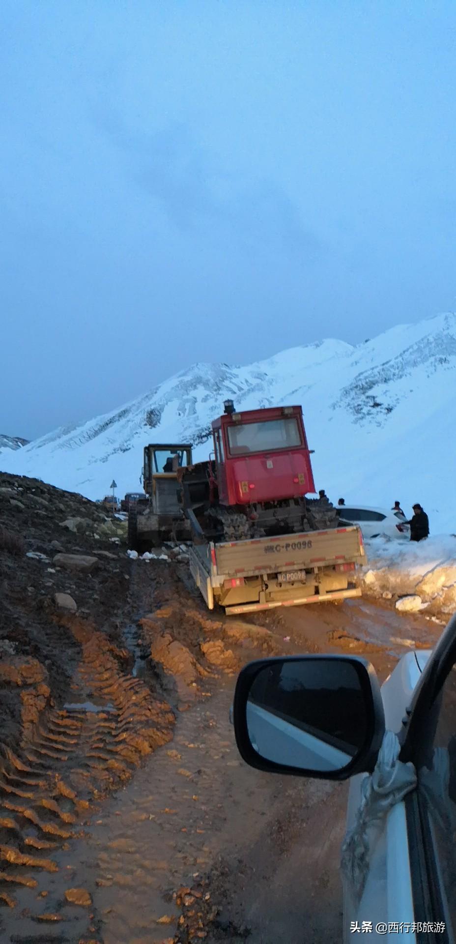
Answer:
[[[250,767],[346,780],[370,773],[385,731],[373,666],[354,656],[261,659],[239,675],[238,750]]]

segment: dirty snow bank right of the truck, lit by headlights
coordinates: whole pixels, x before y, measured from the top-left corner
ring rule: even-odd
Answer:
[[[388,599],[418,596],[430,613],[456,612],[455,537],[442,534],[419,543],[376,538],[366,542],[366,552],[366,595]]]

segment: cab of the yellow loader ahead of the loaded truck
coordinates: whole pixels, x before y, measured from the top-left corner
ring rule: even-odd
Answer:
[[[155,514],[178,514],[177,469],[192,464],[189,445],[149,444],[144,447],[144,492]]]

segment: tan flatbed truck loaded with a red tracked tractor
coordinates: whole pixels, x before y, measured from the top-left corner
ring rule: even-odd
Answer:
[[[300,406],[237,413],[212,422],[213,458],[179,469],[179,500],[192,529],[190,568],[210,608],[229,614],[357,597],[359,528],[339,528],[314,494]]]

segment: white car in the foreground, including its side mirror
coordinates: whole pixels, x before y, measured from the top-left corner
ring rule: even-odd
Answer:
[[[456,616],[432,651],[408,652],[381,689],[356,656],[250,663],[232,716],[251,767],[352,778],[341,939],[406,934],[409,944],[454,944]]]

